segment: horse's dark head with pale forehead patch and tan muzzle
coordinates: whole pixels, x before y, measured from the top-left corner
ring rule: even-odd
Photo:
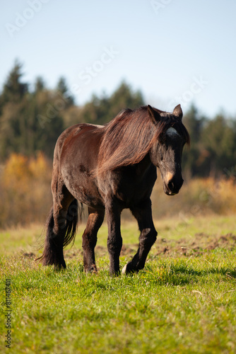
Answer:
[[[177,105],[173,113],[164,113],[148,105],[148,113],[158,130],[158,139],[150,153],[151,161],[160,169],[164,192],[167,195],[175,195],[179,193],[184,182],[181,168],[182,151],[184,144],[189,143],[189,135],[182,124],[182,108]]]

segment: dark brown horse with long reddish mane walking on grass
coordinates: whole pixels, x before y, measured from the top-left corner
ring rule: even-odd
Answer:
[[[172,113],[146,105],[122,110],[107,125],[79,123],[61,133],[54,149],[53,206],[46,222],[45,248],[37,258],[43,265],[66,268],[63,249],[74,241],[86,205],[85,272],[97,272],[94,249],[106,213],[110,274],[120,273],[120,218],[125,208],[136,218],[140,236],[138,251],[122,273],[144,268],[158,234],[151,207],[157,167],[167,195],[176,195],[183,184],[182,150],[189,144],[189,133],[182,116],[180,105]]]

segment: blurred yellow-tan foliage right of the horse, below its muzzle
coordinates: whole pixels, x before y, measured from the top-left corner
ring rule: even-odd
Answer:
[[[236,213],[236,181],[234,178],[194,178],[184,183],[179,194],[163,193],[163,181],[158,178],[151,196],[153,217],[187,215],[195,217],[214,212],[221,215]]]

